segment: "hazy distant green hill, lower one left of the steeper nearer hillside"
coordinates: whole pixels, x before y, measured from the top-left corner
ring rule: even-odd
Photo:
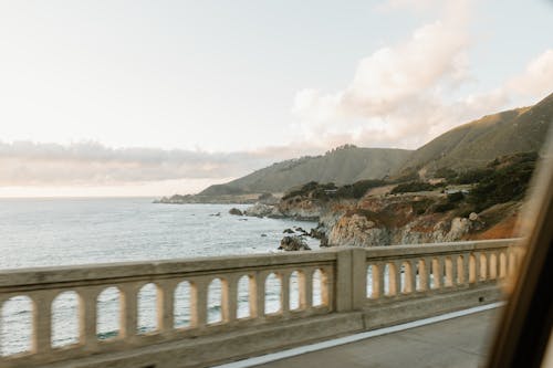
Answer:
[[[380,179],[397,170],[410,153],[406,149],[358,148],[346,145],[323,156],[273,164],[228,183],[211,186],[199,194],[284,192],[309,181],[345,185],[362,179]]]

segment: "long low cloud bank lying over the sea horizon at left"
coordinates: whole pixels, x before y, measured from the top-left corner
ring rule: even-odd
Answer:
[[[137,191],[147,189],[148,192],[152,192],[154,185],[159,190],[177,183],[185,188],[185,180],[196,183],[227,181],[275,160],[317,150],[321,149],[314,146],[298,146],[226,154],[109,148],[98,143],[64,146],[0,141],[0,194],[10,193],[15,190],[13,188],[20,187],[108,189],[119,186],[125,190],[125,187],[134,186]]]

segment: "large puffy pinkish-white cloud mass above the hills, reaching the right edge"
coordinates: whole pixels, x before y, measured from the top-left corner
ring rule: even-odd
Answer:
[[[430,2],[392,0],[385,8],[420,9]],[[512,107],[513,99],[523,101],[517,96],[535,101],[551,93],[553,50],[493,91],[453,101],[445,97],[474,82],[467,57],[470,10],[469,1],[445,2],[440,20],[416,29],[403,43],[362,59],[342,91],[298,92],[293,113],[303,134],[332,145],[417,148],[453,126]]]

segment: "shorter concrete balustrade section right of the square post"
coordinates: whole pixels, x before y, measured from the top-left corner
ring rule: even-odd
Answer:
[[[371,249],[366,280],[373,284],[367,303],[388,303],[414,293],[430,295],[503,280],[515,273],[522,255],[522,249],[512,245],[513,241],[481,241]]]

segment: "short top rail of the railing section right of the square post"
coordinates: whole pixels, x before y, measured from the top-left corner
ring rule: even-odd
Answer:
[[[458,254],[467,251],[486,251],[502,249],[512,245],[521,245],[522,238],[494,239],[447,243],[428,243],[417,245],[373,246],[366,249],[367,260],[392,259],[392,257],[422,257],[427,255]]]

